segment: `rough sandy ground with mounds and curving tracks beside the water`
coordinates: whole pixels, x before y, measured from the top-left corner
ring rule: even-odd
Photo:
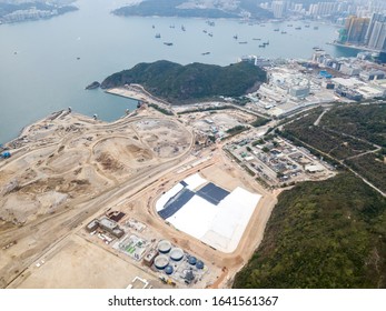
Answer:
[[[89,214],[136,187],[142,188],[151,182],[149,177],[187,156],[191,133],[176,121],[151,116],[152,111],[142,111],[107,124],[60,112],[26,128],[9,144],[12,158],[0,162],[0,288],[66,239]],[[139,140],[133,130],[143,118],[158,122],[154,134],[171,127],[178,132],[162,138],[162,158],[155,159],[154,147]],[[108,157],[101,159],[103,153]]]

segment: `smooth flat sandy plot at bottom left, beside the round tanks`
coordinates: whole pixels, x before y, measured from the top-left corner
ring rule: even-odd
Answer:
[[[9,288],[121,289],[136,277],[150,281],[154,288],[165,287],[157,278],[119,257],[71,235],[28,268]]]

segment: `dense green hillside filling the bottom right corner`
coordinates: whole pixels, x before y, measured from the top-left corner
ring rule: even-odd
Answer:
[[[349,173],[279,195],[234,288],[385,288],[386,199]]]

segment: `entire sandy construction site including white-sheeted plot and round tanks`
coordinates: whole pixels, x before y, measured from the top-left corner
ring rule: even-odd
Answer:
[[[230,150],[268,126],[248,126],[256,116],[235,107],[165,114],[164,102],[140,99],[158,108],[111,123],[59,111],[4,146],[0,288],[231,287],[281,189],[264,187],[245,157],[235,160],[245,151]],[[237,126],[247,131],[222,141]]]

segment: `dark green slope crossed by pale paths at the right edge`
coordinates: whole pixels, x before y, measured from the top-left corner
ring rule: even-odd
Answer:
[[[386,103],[337,106],[315,126],[321,112],[323,108],[314,109],[286,124],[281,136],[344,160],[386,192]]]

